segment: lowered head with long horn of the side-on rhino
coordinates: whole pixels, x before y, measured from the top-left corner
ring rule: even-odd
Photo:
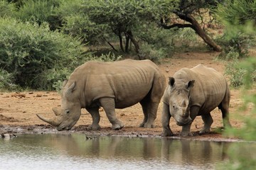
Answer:
[[[53,108],[55,117],[48,119],[37,114],[38,118],[50,125],[56,126],[57,130],[70,130],[78,122],[81,115],[80,101],[77,95],[75,95],[75,82],[70,86],[65,86],[66,84],[67,81],[64,81],[61,91],[60,111],[57,108]]]

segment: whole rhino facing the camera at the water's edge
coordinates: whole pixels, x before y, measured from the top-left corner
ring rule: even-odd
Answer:
[[[210,132],[210,125],[213,123],[210,111],[216,107],[222,112],[224,127],[230,126],[228,83],[222,74],[202,64],[192,69],[180,69],[174,77],[170,77],[163,101],[162,136],[173,135],[169,126],[171,116],[177,125],[182,126],[181,136],[192,136],[191,123],[197,115],[201,115],[204,123],[200,133]]]

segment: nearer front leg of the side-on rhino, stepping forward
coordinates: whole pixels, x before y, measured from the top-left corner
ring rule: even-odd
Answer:
[[[120,130],[124,127],[121,121],[117,119],[117,115],[114,111],[115,103],[114,98],[100,98],[100,104],[107,115],[107,118],[112,123],[112,130]]]

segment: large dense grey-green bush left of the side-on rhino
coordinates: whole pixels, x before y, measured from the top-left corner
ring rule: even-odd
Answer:
[[[82,58],[82,52],[80,40],[52,32],[47,24],[0,18],[0,68],[12,73],[21,87],[52,89],[49,84],[64,76],[50,79],[50,72],[73,70],[89,60],[91,55]]]

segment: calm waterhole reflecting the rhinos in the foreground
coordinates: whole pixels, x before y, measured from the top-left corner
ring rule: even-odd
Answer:
[[[255,143],[240,143],[241,155],[255,157]],[[160,137],[18,135],[0,139],[0,169],[214,169],[229,159],[225,152],[231,145]]]

